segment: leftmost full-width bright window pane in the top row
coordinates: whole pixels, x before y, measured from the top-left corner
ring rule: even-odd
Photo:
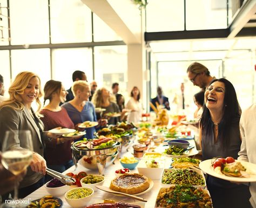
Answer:
[[[11,44],[49,43],[48,1],[11,0]]]

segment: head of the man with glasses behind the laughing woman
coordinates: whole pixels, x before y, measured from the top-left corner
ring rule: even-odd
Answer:
[[[203,91],[210,84],[215,77],[210,75],[208,68],[198,62],[192,63],[187,68],[188,79],[196,86],[200,87]]]

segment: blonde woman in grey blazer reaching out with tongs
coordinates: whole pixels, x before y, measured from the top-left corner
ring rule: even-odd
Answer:
[[[46,174],[46,162],[44,155],[44,141],[49,138],[57,138],[58,135],[43,131],[44,124],[38,119],[31,108],[33,101],[36,101],[38,110],[41,108],[39,98],[42,96],[41,81],[38,75],[32,72],[19,73],[9,88],[10,99],[0,104],[0,149],[4,139],[4,133],[8,130],[30,130],[33,151],[32,162],[25,177],[19,183],[19,198],[28,196],[31,192],[41,187],[44,183],[43,175]],[[12,141],[11,141],[12,142]],[[22,148],[19,143],[15,148]]]

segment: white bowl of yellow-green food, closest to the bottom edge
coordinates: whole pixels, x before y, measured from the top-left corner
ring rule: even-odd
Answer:
[[[92,193],[91,193],[91,195],[84,197],[84,198],[80,198],[80,199],[70,199],[67,197],[70,192],[77,190],[77,189],[87,189],[87,190],[92,191]],[[87,206],[88,202],[91,200],[93,193],[94,193],[93,189],[91,189],[89,187],[78,187],[78,188],[71,189],[68,192],[66,192],[65,199],[66,199],[66,202],[68,202],[68,204],[71,207],[77,207],[77,208],[85,207],[85,206]]]

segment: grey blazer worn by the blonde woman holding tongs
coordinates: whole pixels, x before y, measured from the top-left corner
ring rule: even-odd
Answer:
[[[38,121],[39,126],[41,126],[43,129],[43,122],[41,120]],[[37,127],[35,120],[33,119],[27,108],[24,108],[23,110],[14,110],[9,106],[5,106],[0,109],[0,149],[2,149],[5,131],[8,130],[30,130],[32,136],[33,151],[37,152],[41,156],[44,155],[43,144],[44,140],[48,138],[46,136],[46,133],[42,134],[43,138],[41,137],[39,128]],[[16,135],[16,137],[18,137],[18,140],[22,140],[22,138],[18,134]],[[12,140],[12,138],[9,139]],[[19,147],[19,143],[17,143],[17,145],[15,145],[14,147],[14,149],[20,148],[21,147]],[[23,181],[21,181],[21,183],[19,184],[19,188],[35,184],[42,177],[42,174],[33,172],[29,166]]]

